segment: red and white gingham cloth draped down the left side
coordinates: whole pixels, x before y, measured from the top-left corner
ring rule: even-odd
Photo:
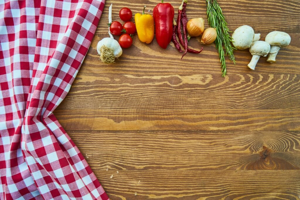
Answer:
[[[0,0],[0,199],[108,199],[52,114],[104,1]]]

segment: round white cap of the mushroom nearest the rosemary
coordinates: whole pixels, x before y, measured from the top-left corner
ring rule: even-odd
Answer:
[[[237,49],[247,49],[254,39],[254,30],[251,26],[243,25],[235,29],[232,34],[232,44]]]

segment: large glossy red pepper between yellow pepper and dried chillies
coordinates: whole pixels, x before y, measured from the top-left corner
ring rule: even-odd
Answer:
[[[157,4],[153,9],[153,18],[156,41],[161,48],[166,49],[173,35],[173,6],[161,0],[161,3]]]

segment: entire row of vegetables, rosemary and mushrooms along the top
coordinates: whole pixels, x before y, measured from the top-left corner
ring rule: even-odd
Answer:
[[[175,48],[183,53],[182,58],[187,52],[199,54],[203,47],[199,51],[190,49],[188,42],[191,37],[199,37],[202,34],[201,44],[215,43],[224,77],[227,72],[225,55],[228,55],[235,64],[233,54],[235,49],[249,48],[252,59],[248,67],[254,70],[261,56],[269,55],[267,62],[276,63],[276,55],[280,48],[288,46],[291,41],[289,34],[280,31],[273,31],[265,37],[265,41],[259,41],[260,34],[255,34],[253,28],[248,25],[238,27],[230,36],[227,22],[217,0],[205,0],[205,5],[207,20],[210,25],[207,29],[204,28],[202,17],[187,19],[187,0],[182,0],[178,9],[177,20],[174,18],[173,6],[170,3],[164,3],[164,0],[161,0],[161,3],[154,7],[153,16],[145,13],[146,6],[144,6],[142,14],[136,13],[134,15],[135,24],[131,22],[131,10],[124,7],[119,11],[120,19],[125,22],[123,25],[118,21],[112,22],[111,4],[108,24],[110,37],[103,38],[97,44],[100,60],[107,64],[114,63],[115,59],[122,55],[122,48],[129,48],[132,45],[135,32],[137,32],[139,40],[146,44],[151,43],[155,35],[158,45],[163,49],[166,49],[172,41]],[[121,35],[119,41],[115,40],[112,34]]]

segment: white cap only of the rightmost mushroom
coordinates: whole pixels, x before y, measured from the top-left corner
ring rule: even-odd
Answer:
[[[288,46],[291,42],[291,37],[289,34],[281,31],[272,31],[265,37],[265,41],[271,46]]]

